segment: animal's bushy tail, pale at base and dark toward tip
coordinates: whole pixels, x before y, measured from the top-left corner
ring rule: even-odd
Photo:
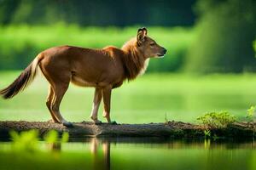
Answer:
[[[37,68],[38,58],[34,59],[32,63],[21,72],[20,76],[9,85],[9,87],[0,90],[0,95],[3,96],[3,99],[11,99],[16,94],[19,94],[22,90],[24,90],[36,76]]]

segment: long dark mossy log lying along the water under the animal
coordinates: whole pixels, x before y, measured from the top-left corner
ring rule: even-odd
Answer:
[[[254,124],[255,125],[255,124]],[[224,128],[212,128],[211,136],[220,138],[252,138],[255,126],[249,122],[236,122]],[[54,129],[59,133],[68,132],[70,137],[82,138],[88,136],[106,137],[172,137],[172,138],[201,138],[205,136],[206,127],[185,122],[166,122],[148,124],[117,124],[92,122],[73,122],[73,127],[64,127],[53,122],[0,122],[0,138],[9,138],[9,131],[17,132],[37,129],[40,136]]]

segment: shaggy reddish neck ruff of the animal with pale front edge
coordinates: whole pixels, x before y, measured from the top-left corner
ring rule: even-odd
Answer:
[[[146,71],[148,62],[145,62],[145,56],[137,49],[136,38],[125,42],[122,50],[124,52],[125,75],[127,80],[131,81]]]

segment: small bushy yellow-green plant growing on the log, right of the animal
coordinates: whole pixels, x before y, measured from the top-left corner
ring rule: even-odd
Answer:
[[[197,117],[197,121],[207,128],[224,128],[228,124],[236,122],[236,117],[230,115],[227,111],[209,112],[204,116]]]

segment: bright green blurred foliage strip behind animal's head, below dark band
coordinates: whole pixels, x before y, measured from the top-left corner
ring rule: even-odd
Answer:
[[[138,26],[82,28],[63,23],[55,26],[2,26],[0,69],[24,69],[38,53],[54,46],[103,48],[114,45],[121,48],[126,41],[137,35],[137,28]],[[194,31],[181,27],[148,27],[148,36],[168,50],[164,59],[151,59],[149,71],[181,70]]]

